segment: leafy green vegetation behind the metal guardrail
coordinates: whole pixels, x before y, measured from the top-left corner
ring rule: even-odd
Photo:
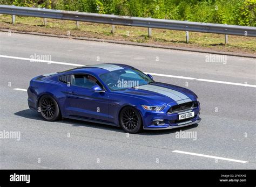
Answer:
[[[0,0],[0,4],[256,26],[256,0]]]

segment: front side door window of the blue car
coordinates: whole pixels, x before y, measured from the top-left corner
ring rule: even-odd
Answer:
[[[100,87],[102,87],[95,77],[85,74],[72,75],[72,85],[88,89],[91,89],[94,85],[99,85]]]

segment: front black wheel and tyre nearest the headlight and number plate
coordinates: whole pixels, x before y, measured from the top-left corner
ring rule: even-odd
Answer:
[[[128,133],[138,133],[143,129],[142,118],[137,109],[132,106],[126,106],[120,112],[120,125]]]

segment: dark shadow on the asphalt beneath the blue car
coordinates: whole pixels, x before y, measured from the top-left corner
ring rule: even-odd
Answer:
[[[34,120],[40,120],[40,121],[45,121],[43,117],[41,116],[40,113],[37,113],[35,111],[32,111],[30,109],[18,111],[14,113],[16,116],[20,116],[23,118],[28,118],[28,119],[34,119]],[[99,123],[91,123],[87,121],[82,121],[82,120],[76,120],[76,119],[68,119],[68,118],[62,118],[62,120],[55,121],[55,123],[64,123],[64,124],[69,124],[72,125],[72,127],[92,127],[92,128],[99,128],[102,130],[107,130],[107,131],[116,131],[116,132],[122,132],[125,133],[121,127],[116,127],[116,126],[111,126],[111,125],[104,125],[104,124],[99,124]],[[186,127],[181,127],[181,128],[174,128],[171,130],[144,130],[143,132],[138,133],[138,135],[163,135],[163,134],[172,134],[177,131],[186,131],[190,130],[191,128],[196,128],[198,124],[186,126]]]

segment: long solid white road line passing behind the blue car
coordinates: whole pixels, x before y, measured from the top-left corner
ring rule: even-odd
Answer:
[[[30,58],[16,57],[16,56],[0,55],[0,57],[9,58],[9,59],[28,60],[30,62],[56,63],[56,64],[62,64],[62,65],[68,65],[68,66],[78,66],[78,67],[85,66],[83,64],[67,63],[67,62],[56,62],[56,61],[48,61],[48,60],[38,60],[38,59],[30,59]],[[148,72],[144,72],[144,73],[145,74],[155,75],[155,76],[172,77],[172,78],[183,78],[183,79],[187,79],[187,80],[205,81],[205,82],[213,82],[213,83],[221,83],[221,84],[231,84],[231,85],[240,85],[240,86],[243,86],[243,87],[253,87],[253,88],[256,88],[256,85],[253,85],[253,84],[242,84],[242,83],[234,83],[234,82],[226,82],[226,81],[214,81],[214,80],[207,80],[207,79],[203,79],[203,78],[193,78],[193,77],[184,77],[184,76],[176,76],[176,75],[156,74],[156,73],[148,73]]]

